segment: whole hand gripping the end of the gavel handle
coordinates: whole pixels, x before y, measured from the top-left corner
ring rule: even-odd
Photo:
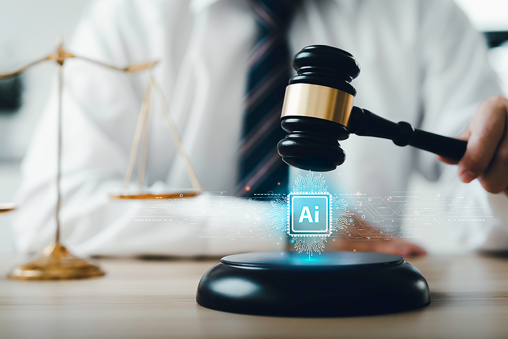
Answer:
[[[495,96],[482,102],[459,139],[467,140],[466,152],[458,162],[459,178],[464,182],[478,178],[488,192],[508,196],[508,100]]]

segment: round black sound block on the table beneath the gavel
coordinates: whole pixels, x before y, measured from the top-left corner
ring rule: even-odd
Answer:
[[[253,252],[220,259],[196,301],[234,313],[335,317],[416,309],[430,292],[422,273],[393,254]]]

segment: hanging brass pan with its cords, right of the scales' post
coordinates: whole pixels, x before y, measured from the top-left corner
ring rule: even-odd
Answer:
[[[190,183],[192,184],[192,190],[164,192],[156,194],[144,191],[146,162],[148,158],[148,145],[150,141],[150,117],[151,117],[150,101],[152,90],[155,90],[156,95],[161,102],[161,106],[164,111],[164,117],[166,118],[166,122],[168,123],[171,136],[173,137],[173,141],[178,151],[178,155],[180,156],[183,165],[185,166],[185,171],[190,180]],[[141,152],[138,160],[138,173],[137,173],[138,188],[140,191],[130,192],[129,187],[134,173],[136,159],[138,158],[138,151],[140,150],[140,148]],[[194,171],[194,168],[192,166],[192,163],[190,163],[190,159],[187,155],[187,152],[183,147],[180,135],[178,134],[178,130],[176,129],[175,122],[169,111],[168,103],[166,101],[166,98],[164,97],[164,93],[161,87],[155,81],[154,77],[150,76],[150,81],[146,88],[143,103],[141,105],[141,110],[139,112],[136,130],[134,132],[134,140],[131,147],[131,154],[129,156],[129,163],[123,180],[122,190],[120,193],[110,194],[110,197],[113,199],[139,199],[139,200],[148,200],[157,198],[178,199],[178,198],[195,197],[202,191],[204,191],[204,187],[200,184],[198,177],[196,176],[196,172]]]

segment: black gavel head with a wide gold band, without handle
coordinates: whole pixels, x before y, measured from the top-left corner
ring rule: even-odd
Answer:
[[[291,166],[334,170],[345,160],[338,140],[350,134],[347,123],[356,95],[350,82],[360,66],[346,51],[315,45],[298,52],[293,67],[298,74],[286,87],[280,123],[289,134],[277,151]]]

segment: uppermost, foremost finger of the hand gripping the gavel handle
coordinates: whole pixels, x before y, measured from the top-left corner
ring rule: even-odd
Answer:
[[[489,166],[504,133],[507,102],[502,97],[485,100],[469,123],[466,152],[459,161],[462,181],[470,182]]]

